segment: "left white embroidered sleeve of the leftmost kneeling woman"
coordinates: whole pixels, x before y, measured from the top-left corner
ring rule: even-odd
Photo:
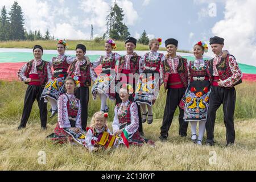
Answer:
[[[62,95],[58,99],[58,122],[60,128],[69,128],[71,127],[68,119],[68,108],[67,108],[68,98],[65,95]]]

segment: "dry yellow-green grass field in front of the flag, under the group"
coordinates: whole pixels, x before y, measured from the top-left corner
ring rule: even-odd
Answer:
[[[26,85],[22,82],[0,81],[0,170],[255,170],[256,169],[256,83],[237,86],[235,113],[236,144],[225,147],[226,129],[222,109],[217,114],[214,130],[216,146],[197,146],[188,137],[178,135],[175,115],[166,143],[159,142],[166,93],[154,106],[154,123],[143,125],[146,138],[156,147],[119,147],[112,151],[90,154],[82,146],[58,145],[46,140],[53,132],[57,118],[48,119],[47,131],[40,130],[38,106],[35,102],[27,128],[17,130],[23,109]],[[109,127],[112,129],[113,102],[109,102]],[[89,117],[100,109],[100,101],[89,102]],[[88,122],[90,119],[88,119]],[[38,163],[40,151],[46,154],[46,164]],[[216,156],[213,158],[212,156]],[[216,159],[216,160],[214,160]],[[213,162],[213,163],[210,163]]]

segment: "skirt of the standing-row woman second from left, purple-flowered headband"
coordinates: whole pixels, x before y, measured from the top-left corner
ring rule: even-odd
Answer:
[[[106,94],[110,100],[115,100],[115,76],[101,73],[92,86],[93,99],[96,100],[98,94]]]

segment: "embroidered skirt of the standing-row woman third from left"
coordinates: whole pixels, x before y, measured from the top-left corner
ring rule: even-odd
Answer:
[[[154,105],[160,89],[159,73],[142,73],[135,91],[134,102]]]

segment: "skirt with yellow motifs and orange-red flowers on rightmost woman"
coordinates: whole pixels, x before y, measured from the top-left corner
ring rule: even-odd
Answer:
[[[206,121],[209,107],[210,82],[193,81],[185,93],[184,120]]]

